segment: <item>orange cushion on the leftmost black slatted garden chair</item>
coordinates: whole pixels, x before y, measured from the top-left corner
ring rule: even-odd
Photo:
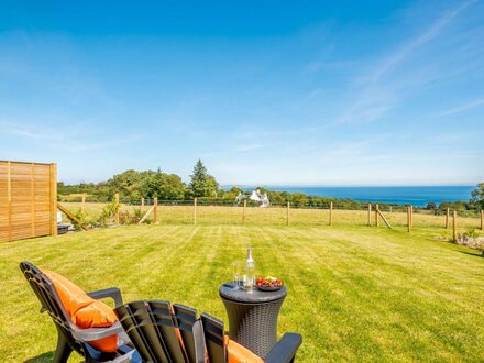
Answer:
[[[105,302],[95,300],[79,286],[55,272],[48,270],[42,270],[42,272],[54,284],[67,315],[76,327],[80,329],[106,328],[118,321],[114,311]],[[102,352],[116,352],[118,334],[90,341],[89,344]]]

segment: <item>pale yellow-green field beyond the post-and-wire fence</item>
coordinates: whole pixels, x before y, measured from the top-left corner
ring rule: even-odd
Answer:
[[[80,208],[80,202],[63,202],[67,209],[75,211]],[[96,218],[100,215],[105,204],[87,202],[85,210],[88,218]],[[134,209],[147,211],[150,207],[122,205],[121,210],[133,212]],[[246,226],[285,226],[286,208],[257,208],[248,207],[245,210]],[[395,228],[404,228],[407,223],[405,212],[383,212],[388,222]],[[160,223],[162,224],[193,224],[193,205],[161,205],[158,207]],[[148,221],[153,216],[148,218]],[[414,213],[415,228],[444,227],[444,216],[433,216],[430,213]],[[329,222],[328,209],[294,209],[289,211],[289,223],[292,226],[327,226]],[[372,212],[374,223],[374,212]],[[451,220],[450,220],[451,222]],[[243,224],[243,207],[224,206],[197,206],[198,224]],[[366,226],[367,211],[364,210],[333,210],[333,226]],[[381,226],[384,226],[381,221]],[[458,229],[464,232],[471,228],[479,228],[477,217],[458,216]]]

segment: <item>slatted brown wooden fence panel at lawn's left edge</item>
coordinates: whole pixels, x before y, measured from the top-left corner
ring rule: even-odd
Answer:
[[[0,241],[57,233],[55,164],[0,161]]]

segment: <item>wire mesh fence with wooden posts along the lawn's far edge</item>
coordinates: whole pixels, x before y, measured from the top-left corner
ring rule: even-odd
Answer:
[[[377,217],[375,205],[369,210],[343,209],[338,205],[272,205],[267,208],[257,207],[255,204],[235,205],[224,200],[155,200],[144,199],[139,204],[124,204],[121,201],[120,212],[124,216],[146,216],[146,223],[162,224],[241,224],[241,226],[369,226],[383,223],[382,217]],[[106,204],[88,201],[63,202],[70,210],[82,209],[87,219],[96,219],[100,216]],[[156,205],[156,213],[153,206]],[[408,226],[408,212],[406,206],[378,207],[378,210],[392,227]],[[443,228],[452,226],[452,213],[447,217],[446,211],[413,209],[413,227]],[[482,228],[481,211],[458,211],[459,228]],[[156,218],[156,221],[155,221]],[[131,219],[132,220],[132,219]],[[121,220],[122,223],[122,220]]]

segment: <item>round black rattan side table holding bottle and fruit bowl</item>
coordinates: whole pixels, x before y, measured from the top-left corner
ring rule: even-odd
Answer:
[[[229,316],[229,337],[261,358],[277,343],[277,317],[286,286],[277,292],[248,293],[234,289],[233,283],[220,286],[219,294]]]

